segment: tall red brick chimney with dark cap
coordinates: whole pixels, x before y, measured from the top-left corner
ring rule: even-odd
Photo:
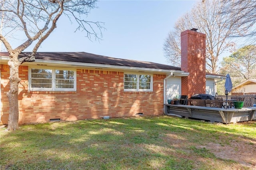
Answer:
[[[188,77],[181,79],[181,93],[188,97],[196,93],[205,93],[206,90],[206,36],[196,30],[193,28],[180,34],[181,70],[189,72]]]

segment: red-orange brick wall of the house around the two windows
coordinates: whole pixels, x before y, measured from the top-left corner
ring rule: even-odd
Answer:
[[[19,123],[50,119],[74,121],[103,116],[128,117],[136,113],[163,114],[163,80],[153,75],[152,92],[124,92],[124,73],[118,71],[76,70],[76,92],[28,91],[28,67],[20,67]],[[1,123],[8,123],[8,65],[1,67]]]

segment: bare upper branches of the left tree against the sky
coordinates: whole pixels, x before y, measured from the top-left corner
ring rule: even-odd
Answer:
[[[16,51],[21,52],[36,40],[38,40],[37,43],[40,45],[42,40],[45,40],[45,38],[42,37],[46,34],[49,36],[49,33],[52,32],[52,28],[56,28],[56,24],[54,27],[52,26],[54,25],[54,18],[56,18],[58,14],[64,14],[65,16],[71,14],[70,16],[72,16],[78,24],[75,32],[77,30],[84,31],[86,32],[85,36],[88,37],[89,40],[91,40],[92,36],[94,36],[96,40],[101,40],[101,29],[104,29],[104,27],[102,27],[104,23],[82,19],[84,15],[87,16],[90,13],[90,9],[96,8],[96,2],[96,0],[17,0],[14,2],[5,0],[0,2],[2,6],[0,12],[5,12],[4,20],[9,20],[9,22],[6,23],[12,23],[12,25],[6,24],[4,27],[6,33],[8,33],[9,29],[15,28],[15,30],[22,30],[26,35],[27,40],[15,48]],[[42,27],[43,22],[45,24]],[[7,37],[7,35],[3,36]],[[46,36],[46,38],[48,36]]]

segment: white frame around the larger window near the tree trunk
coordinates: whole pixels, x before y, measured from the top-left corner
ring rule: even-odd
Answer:
[[[52,88],[33,88],[31,87],[31,69],[51,69],[52,70]],[[74,71],[74,88],[73,89],[58,89],[55,88],[55,70],[70,70]],[[61,67],[28,67],[28,90],[29,91],[76,91],[76,69],[74,68],[61,68]]]

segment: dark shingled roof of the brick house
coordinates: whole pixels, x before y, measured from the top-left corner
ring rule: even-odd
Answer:
[[[29,52],[24,52],[28,53]],[[21,53],[19,57],[23,57],[24,53]],[[1,56],[9,56],[7,52],[0,52]],[[150,69],[166,69],[166,70],[178,70],[180,67],[174,67],[171,65],[152,63],[146,61],[136,61],[130,59],[120,59],[113,57],[106,57],[103,55],[96,55],[86,52],[37,52],[36,59],[53,60],[53,61],[70,61],[78,63],[92,63],[92,64],[104,64],[126,67],[140,67]]]

